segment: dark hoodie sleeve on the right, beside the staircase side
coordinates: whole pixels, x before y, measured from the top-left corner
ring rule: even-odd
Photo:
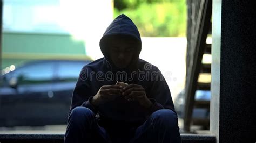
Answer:
[[[149,96],[153,105],[148,110],[148,116],[160,109],[171,109],[175,112],[170,89],[164,76],[159,70],[157,72],[161,75],[161,78],[153,81]]]

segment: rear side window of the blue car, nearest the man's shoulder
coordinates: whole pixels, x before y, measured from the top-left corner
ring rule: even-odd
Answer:
[[[62,61],[58,62],[57,78],[61,81],[77,81],[81,69],[86,61]]]

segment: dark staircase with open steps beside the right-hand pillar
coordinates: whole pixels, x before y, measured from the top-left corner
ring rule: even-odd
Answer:
[[[210,82],[200,82],[199,76],[211,74],[211,63],[202,63],[204,54],[211,54],[211,44],[206,44],[211,34],[212,0],[188,0],[187,59],[185,84],[184,131],[190,126],[202,125],[208,128],[209,119],[192,118],[194,108],[210,111],[210,101],[195,101],[196,90],[210,90]]]

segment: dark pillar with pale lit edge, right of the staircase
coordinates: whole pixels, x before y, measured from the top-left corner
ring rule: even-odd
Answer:
[[[256,141],[256,2],[213,0],[210,130],[217,142]]]

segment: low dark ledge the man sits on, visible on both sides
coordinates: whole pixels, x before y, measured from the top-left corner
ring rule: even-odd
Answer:
[[[0,134],[0,142],[54,142],[63,143],[64,134]],[[181,134],[183,143],[215,143],[216,138],[213,135],[193,135]]]

